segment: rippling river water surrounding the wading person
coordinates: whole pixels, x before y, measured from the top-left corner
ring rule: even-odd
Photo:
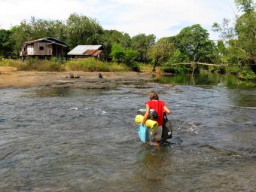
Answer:
[[[0,90],[0,191],[256,191],[256,88],[222,75],[157,82]],[[160,149],[136,132],[148,90],[173,112]]]

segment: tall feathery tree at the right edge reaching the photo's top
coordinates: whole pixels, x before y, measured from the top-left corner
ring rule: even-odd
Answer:
[[[221,39],[227,44],[231,62],[256,63],[256,13],[251,0],[235,0],[237,8],[244,11],[236,16],[235,23],[224,19],[220,25],[214,23],[214,31],[220,32]]]

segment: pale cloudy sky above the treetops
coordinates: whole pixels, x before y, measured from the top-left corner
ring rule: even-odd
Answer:
[[[142,33],[169,37],[200,24],[212,40],[218,39],[212,24],[234,20],[238,14],[233,0],[0,0],[0,8],[0,29],[11,29],[31,17],[66,21],[76,13],[131,37]]]

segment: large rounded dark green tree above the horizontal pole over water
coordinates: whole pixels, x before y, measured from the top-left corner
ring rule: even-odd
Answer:
[[[215,44],[200,25],[185,27],[175,36],[175,47],[193,62],[212,62]]]

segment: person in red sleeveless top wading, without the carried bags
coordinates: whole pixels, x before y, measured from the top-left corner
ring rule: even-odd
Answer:
[[[164,112],[166,112],[166,114],[171,114],[172,111],[166,106],[165,102],[159,100],[159,96],[154,90],[151,90],[148,93],[148,97],[150,100],[148,102],[145,102],[146,112],[142,120],[142,124],[145,124],[145,121],[148,119],[148,114],[150,109],[154,109],[155,111],[157,111],[156,121],[158,123],[158,126],[157,126],[157,129],[155,130],[148,128],[148,139],[149,141],[155,142],[157,147],[159,147],[159,142],[160,142],[162,131],[163,131],[162,125],[163,125]]]

